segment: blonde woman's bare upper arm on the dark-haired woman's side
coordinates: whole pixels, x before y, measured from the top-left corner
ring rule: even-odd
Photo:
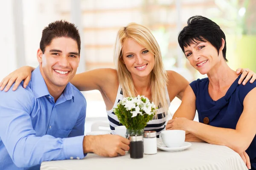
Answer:
[[[167,89],[169,92],[169,96],[173,96],[171,95],[171,93],[175,93],[175,96],[177,96],[181,100],[186,90],[186,87],[189,85],[188,80],[186,80],[183,76],[181,76],[175,71],[168,70],[167,76],[168,76]]]

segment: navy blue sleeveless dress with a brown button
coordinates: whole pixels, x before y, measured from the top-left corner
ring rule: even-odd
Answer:
[[[240,75],[241,76],[241,75]],[[217,101],[209,96],[209,79],[197,79],[190,83],[196,97],[199,122],[215,127],[236,129],[236,124],[244,109],[245,96],[256,87],[256,82],[239,85],[240,76],[233,82],[225,96]],[[250,157],[251,168],[256,170],[256,137],[246,150]]]

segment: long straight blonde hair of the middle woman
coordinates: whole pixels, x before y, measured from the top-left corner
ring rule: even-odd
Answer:
[[[119,29],[114,48],[114,59],[117,68],[118,80],[122,86],[124,97],[136,96],[136,89],[131,77],[131,73],[122,62],[122,47],[126,38],[131,38],[143,45],[149,52],[154,54],[155,64],[151,72],[151,100],[159,107],[163,107],[165,113],[168,111],[166,100],[166,84],[168,82],[166,70],[163,67],[163,60],[160,47],[151,31],[137,23],[130,23],[126,27]],[[155,115],[157,118],[157,115]]]

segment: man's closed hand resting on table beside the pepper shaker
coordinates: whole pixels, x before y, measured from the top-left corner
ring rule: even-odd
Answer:
[[[125,155],[130,141],[119,135],[84,136],[84,153],[93,152],[99,156],[115,157]]]

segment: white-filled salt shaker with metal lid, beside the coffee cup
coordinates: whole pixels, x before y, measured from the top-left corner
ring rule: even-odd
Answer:
[[[157,153],[157,132],[145,131],[143,135],[144,154],[152,155]]]

